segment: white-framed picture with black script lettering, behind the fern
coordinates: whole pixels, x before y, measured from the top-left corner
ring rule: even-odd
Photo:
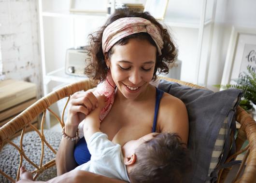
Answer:
[[[256,29],[233,26],[221,85],[234,84],[232,79],[243,77],[247,67],[256,72]]]

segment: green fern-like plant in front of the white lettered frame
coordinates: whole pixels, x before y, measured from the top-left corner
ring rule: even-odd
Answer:
[[[234,79],[237,84],[218,85],[218,87],[223,89],[236,88],[243,90],[240,106],[244,110],[249,111],[253,108],[253,105],[254,107],[256,106],[256,72],[250,67],[247,67],[247,70],[249,74],[244,73],[240,78]]]

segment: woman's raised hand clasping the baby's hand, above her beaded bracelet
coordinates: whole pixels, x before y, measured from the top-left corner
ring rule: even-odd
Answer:
[[[68,118],[65,123],[66,130],[70,131],[69,135],[74,136],[79,123],[92,110],[99,106],[95,95],[89,91],[78,91],[71,95]],[[67,133],[67,131],[66,131]]]

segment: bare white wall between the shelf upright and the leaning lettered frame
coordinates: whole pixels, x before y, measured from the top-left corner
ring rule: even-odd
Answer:
[[[256,28],[256,0],[217,0],[208,88],[220,84],[232,26]]]

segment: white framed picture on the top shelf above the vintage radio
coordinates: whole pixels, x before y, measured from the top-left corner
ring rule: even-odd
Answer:
[[[70,0],[70,12],[107,13],[109,0]]]

